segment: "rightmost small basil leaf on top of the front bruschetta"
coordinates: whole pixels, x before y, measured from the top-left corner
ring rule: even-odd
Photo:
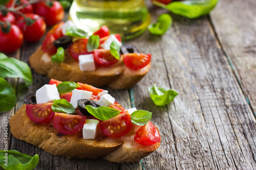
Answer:
[[[137,110],[131,114],[132,123],[138,126],[144,126],[150,121],[152,112]]]

